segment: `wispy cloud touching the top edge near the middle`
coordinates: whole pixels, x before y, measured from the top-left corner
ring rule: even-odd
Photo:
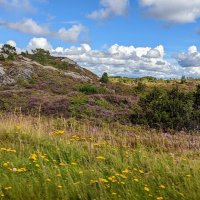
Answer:
[[[105,20],[113,16],[123,16],[129,8],[129,0],[100,0],[100,4],[102,8],[88,14],[88,18]]]

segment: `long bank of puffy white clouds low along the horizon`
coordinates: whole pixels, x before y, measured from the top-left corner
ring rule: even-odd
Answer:
[[[10,40],[7,43],[16,46],[15,41]],[[200,77],[200,52],[196,46],[189,47],[186,53],[180,53],[175,57],[179,64],[175,59],[165,59],[162,45],[152,48],[115,44],[102,51],[92,49],[89,44],[81,44],[77,47],[54,49],[46,38],[32,38],[27,49],[30,51],[36,48],[49,50],[54,56],[68,57],[98,75],[108,72],[109,75],[129,77]]]

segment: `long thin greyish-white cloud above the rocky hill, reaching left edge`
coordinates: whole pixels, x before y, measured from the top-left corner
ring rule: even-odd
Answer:
[[[23,19],[14,23],[0,21],[0,26],[35,36],[49,36],[70,43],[78,42],[80,36],[86,31],[86,27],[83,25],[74,24],[69,29],[60,28],[54,32],[45,25],[39,25],[33,19]]]

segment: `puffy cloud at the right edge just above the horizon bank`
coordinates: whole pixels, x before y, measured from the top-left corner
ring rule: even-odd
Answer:
[[[188,48],[187,52],[175,56],[179,65],[182,67],[198,67],[200,70],[200,52],[196,46]]]

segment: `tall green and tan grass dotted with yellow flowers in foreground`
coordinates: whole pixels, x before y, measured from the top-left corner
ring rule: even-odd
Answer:
[[[2,115],[0,199],[198,200],[199,142],[198,134]]]

